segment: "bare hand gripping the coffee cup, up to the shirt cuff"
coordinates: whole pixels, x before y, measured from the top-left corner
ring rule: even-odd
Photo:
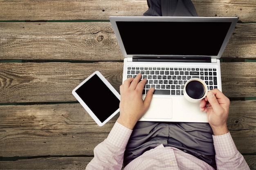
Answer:
[[[224,135],[228,132],[229,103],[229,99],[217,88],[209,91],[207,97],[202,99],[200,109],[207,112],[207,119],[213,130],[213,135]]]

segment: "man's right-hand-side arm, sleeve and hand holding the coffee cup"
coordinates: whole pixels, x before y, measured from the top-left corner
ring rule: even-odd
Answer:
[[[201,110],[207,112],[213,130],[217,170],[249,170],[227,128],[229,103],[229,99],[217,88],[209,91],[200,103]]]

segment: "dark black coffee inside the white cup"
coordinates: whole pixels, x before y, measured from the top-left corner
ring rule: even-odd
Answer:
[[[186,85],[186,93],[193,99],[200,99],[205,94],[204,85],[196,80],[191,81]]]

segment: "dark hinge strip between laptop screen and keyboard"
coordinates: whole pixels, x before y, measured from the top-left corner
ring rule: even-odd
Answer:
[[[213,62],[215,60],[213,60]],[[200,57],[200,58],[192,58],[192,57],[183,57],[183,58],[132,57],[132,59],[128,58],[128,61],[132,61],[132,62],[209,62],[209,63],[212,62],[210,57]],[[217,60],[215,62],[217,62]]]

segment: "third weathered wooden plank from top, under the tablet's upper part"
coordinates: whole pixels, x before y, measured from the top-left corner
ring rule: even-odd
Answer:
[[[222,91],[227,97],[256,96],[256,63],[221,63]],[[0,103],[70,102],[72,90],[100,71],[119,91],[122,62],[0,63]]]

